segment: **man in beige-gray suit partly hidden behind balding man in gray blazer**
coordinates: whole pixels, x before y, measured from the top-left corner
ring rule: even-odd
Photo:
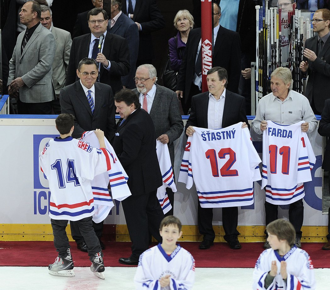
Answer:
[[[51,75],[56,99],[52,100],[51,105],[54,114],[58,115],[61,114],[60,90],[65,86],[72,40],[70,32],[52,26],[52,20],[50,8],[46,5],[41,5],[40,22],[51,31],[56,41],[56,50],[52,66],[53,73]]]

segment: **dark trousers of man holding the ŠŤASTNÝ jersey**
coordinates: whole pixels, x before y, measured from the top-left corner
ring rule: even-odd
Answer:
[[[205,240],[214,241],[215,233],[212,226],[213,208],[203,208],[198,202],[198,230]],[[237,239],[238,207],[222,208],[222,226],[225,231],[223,238],[226,242]]]

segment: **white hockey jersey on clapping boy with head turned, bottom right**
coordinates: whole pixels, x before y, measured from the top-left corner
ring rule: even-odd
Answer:
[[[273,249],[264,250],[260,254],[253,271],[252,288],[254,290],[266,290],[265,278],[271,270],[272,261],[276,261],[277,275],[267,290],[314,290],[316,288],[314,267],[310,256],[306,251],[294,246],[283,257]],[[286,284],[280,273],[281,261],[286,262]]]

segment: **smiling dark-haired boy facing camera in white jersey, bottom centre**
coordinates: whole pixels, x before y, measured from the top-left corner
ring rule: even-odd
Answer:
[[[162,244],[140,255],[134,277],[136,289],[189,290],[195,281],[195,260],[177,241],[182,224],[174,216],[165,217],[159,228]]]

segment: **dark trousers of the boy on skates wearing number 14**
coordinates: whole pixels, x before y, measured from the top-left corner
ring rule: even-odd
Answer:
[[[58,256],[65,258],[67,256],[66,250],[70,248],[69,239],[65,231],[68,221],[50,219],[50,222],[53,229],[54,246],[56,251],[58,251]],[[88,247],[89,259],[92,261],[95,258],[94,255],[102,251],[99,240],[92,227],[92,217],[81,219],[75,223],[78,224],[79,230]]]

